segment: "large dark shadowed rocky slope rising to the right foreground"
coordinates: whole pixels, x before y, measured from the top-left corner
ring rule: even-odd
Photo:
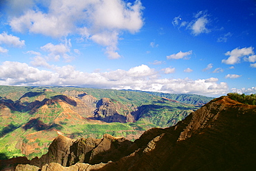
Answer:
[[[221,97],[171,128],[156,129],[145,148],[101,170],[250,170],[255,168],[255,119],[255,105]]]

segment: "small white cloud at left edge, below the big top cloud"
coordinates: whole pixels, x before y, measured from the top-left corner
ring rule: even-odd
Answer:
[[[12,34],[3,32],[0,34],[0,44],[7,44],[8,46],[21,48],[25,46],[25,41],[19,40],[19,37],[12,36]]]

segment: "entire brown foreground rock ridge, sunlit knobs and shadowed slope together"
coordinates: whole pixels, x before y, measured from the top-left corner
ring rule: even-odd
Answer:
[[[29,167],[42,170],[56,170],[54,165],[62,170],[82,167],[82,170],[136,171],[252,170],[256,167],[255,121],[255,105],[220,97],[170,128],[147,130],[134,142],[107,134],[100,140],[59,136],[46,155],[30,162],[37,166]],[[24,169],[26,165],[18,165],[16,170],[21,167]]]

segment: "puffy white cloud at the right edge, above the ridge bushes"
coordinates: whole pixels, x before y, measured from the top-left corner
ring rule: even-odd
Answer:
[[[246,57],[250,54],[254,54],[253,47],[241,49],[235,48],[234,50],[226,52],[225,55],[230,57],[228,57],[228,59],[222,59],[221,62],[233,65],[235,63],[239,63],[241,61],[241,57]]]

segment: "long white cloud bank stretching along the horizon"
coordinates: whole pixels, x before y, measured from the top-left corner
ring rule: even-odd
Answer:
[[[15,74],[13,74],[15,73]],[[26,63],[5,61],[0,65],[0,84],[19,86],[86,86],[93,88],[132,89],[167,93],[203,95],[226,94],[227,83],[218,79],[161,79],[158,72],[146,65],[129,70],[80,72],[73,66],[39,70]]]

